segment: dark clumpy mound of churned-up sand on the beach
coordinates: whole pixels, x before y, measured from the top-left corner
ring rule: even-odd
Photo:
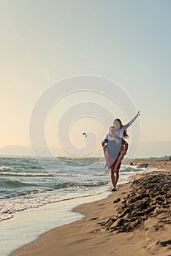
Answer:
[[[134,180],[129,194],[121,202],[119,198],[113,202],[119,202],[115,216],[101,225],[106,230],[122,233],[140,227],[149,217],[170,224],[170,184],[170,173],[148,173]]]

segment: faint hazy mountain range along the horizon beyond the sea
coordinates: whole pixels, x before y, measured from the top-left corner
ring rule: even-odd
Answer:
[[[129,148],[126,157],[132,158],[131,148]],[[56,157],[68,156],[67,153],[59,148],[51,148],[51,150],[53,151],[53,154],[56,155]],[[37,151],[39,152],[39,157],[49,157],[45,155],[45,148],[37,148]],[[95,153],[88,155],[88,157],[102,157],[102,155],[102,151],[96,151]],[[163,157],[164,155],[171,156],[171,141],[152,141],[147,143],[141,143],[136,157]],[[30,146],[12,145],[0,148],[0,156],[33,157],[34,154],[31,151]]]

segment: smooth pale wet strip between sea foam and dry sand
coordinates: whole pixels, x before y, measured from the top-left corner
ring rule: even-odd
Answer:
[[[75,207],[107,198],[108,195],[109,192],[104,191],[98,195],[62,200],[16,212],[15,217],[1,222],[0,254],[2,256],[10,255],[16,249],[37,241],[39,237],[54,228],[83,219],[85,217],[83,214],[73,211]]]

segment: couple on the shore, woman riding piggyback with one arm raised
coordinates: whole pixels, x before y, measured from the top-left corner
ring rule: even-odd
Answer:
[[[106,138],[102,141],[102,148],[104,151],[104,157],[106,159],[105,167],[110,169],[110,178],[113,184],[112,191],[116,190],[116,184],[119,178],[119,169],[121,167],[121,160],[128,150],[128,143],[126,140],[128,138],[126,129],[135,121],[135,119],[140,116],[140,111],[137,115],[129,121],[128,124],[123,125],[120,119],[115,119],[113,121],[113,126],[110,127],[109,133]]]

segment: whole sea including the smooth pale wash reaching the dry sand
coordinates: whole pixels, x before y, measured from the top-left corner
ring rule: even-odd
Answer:
[[[151,170],[121,165],[118,184]],[[83,218],[83,214],[73,217],[72,209],[107,197],[111,187],[104,159],[0,157],[0,255],[9,255],[53,227]],[[42,209],[47,215],[39,223]]]

